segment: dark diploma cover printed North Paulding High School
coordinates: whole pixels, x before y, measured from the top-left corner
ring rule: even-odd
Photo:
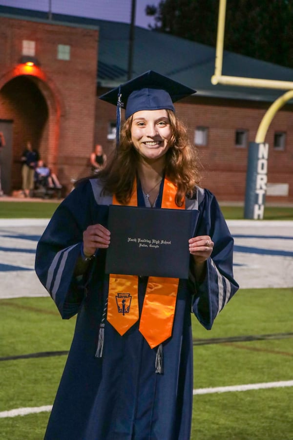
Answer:
[[[110,205],[106,273],[188,278],[198,210]]]

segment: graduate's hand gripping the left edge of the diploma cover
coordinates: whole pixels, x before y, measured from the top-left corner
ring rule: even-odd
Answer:
[[[97,224],[88,226],[84,231],[84,255],[89,257],[97,249],[107,249],[110,244],[110,231]]]

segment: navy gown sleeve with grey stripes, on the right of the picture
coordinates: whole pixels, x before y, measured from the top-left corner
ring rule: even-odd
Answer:
[[[214,242],[207,260],[206,275],[199,284],[193,280],[195,292],[192,311],[199,322],[210,330],[214,319],[228,303],[239,286],[233,278],[233,243],[226,221],[214,195],[205,190],[199,205],[196,235],[209,235]]]

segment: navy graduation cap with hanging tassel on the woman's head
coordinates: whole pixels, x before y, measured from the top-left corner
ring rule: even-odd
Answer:
[[[116,141],[118,146],[121,107],[126,110],[126,119],[140,110],[168,109],[175,111],[173,103],[193,93],[196,91],[153,70],[148,70],[100,96],[100,99],[117,105]]]

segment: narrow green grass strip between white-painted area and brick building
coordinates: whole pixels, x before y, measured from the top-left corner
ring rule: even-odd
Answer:
[[[0,218],[51,218],[59,205],[56,202],[0,202]],[[226,219],[243,219],[241,206],[221,206]],[[293,209],[284,207],[266,207],[265,220],[293,220]]]

